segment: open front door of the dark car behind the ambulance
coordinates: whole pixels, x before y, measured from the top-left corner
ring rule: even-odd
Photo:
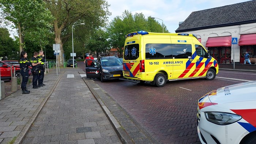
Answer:
[[[92,62],[94,63],[94,65],[88,65],[88,64],[91,64]],[[86,77],[87,78],[97,78],[97,79],[99,79],[100,78],[100,68],[101,68],[101,66],[97,61],[86,59],[86,61],[85,61],[85,71],[86,71]]]

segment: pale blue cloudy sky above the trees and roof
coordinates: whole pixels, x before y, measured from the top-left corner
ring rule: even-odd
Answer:
[[[148,16],[158,18],[160,24],[167,27],[170,33],[175,33],[179,22],[183,22],[193,11],[206,10],[215,7],[222,7],[241,3],[250,0],[106,0],[110,4],[109,22],[116,16],[122,16],[125,10],[134,15],[142,13],[145,18]],[[234,14],[235,15],[235,14]],[[162,19],[162,20],[159,20]]]

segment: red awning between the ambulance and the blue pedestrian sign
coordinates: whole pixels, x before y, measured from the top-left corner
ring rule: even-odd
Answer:
[[[211,37],[207,39],[206,47],[231,46],[231,36]]]

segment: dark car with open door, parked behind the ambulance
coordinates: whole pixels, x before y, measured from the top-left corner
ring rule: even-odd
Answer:
[[[86,59],[86,77],[101,82],[123,78],[123,63],[115,56],[99,57],[97,61]]]

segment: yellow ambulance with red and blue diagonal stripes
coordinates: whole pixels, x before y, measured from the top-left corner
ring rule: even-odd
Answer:
[[[193,34],[138,31],[125,37],[123,80],[163,87],[171,80],[213,80],[219,71]]]

